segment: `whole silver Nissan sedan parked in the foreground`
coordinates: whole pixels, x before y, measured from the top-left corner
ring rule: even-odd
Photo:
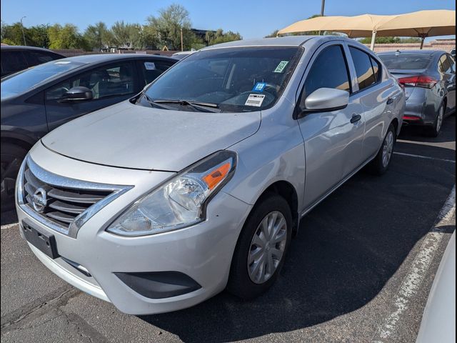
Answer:
[[[306,212],[366,164],[386,172],[404,107],[350,39],[208,47],[34,145],[16,184],[21,235],[52,272],[129,314],[225,288],[256,297]]]

